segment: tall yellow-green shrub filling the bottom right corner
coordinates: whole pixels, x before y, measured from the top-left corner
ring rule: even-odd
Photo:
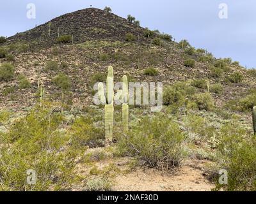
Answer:
[[[219,166],[228,172],[228,184],[220,185],[216,179],[216,190],[256,191],[256,140],[237,124],[221,128],[218,150]]]

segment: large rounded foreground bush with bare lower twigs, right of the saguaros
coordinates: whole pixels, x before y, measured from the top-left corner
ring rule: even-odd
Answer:
[[[184,157],[185,136],[178,124],[159,117],[143,119],[127,137],[119,138],[118,150],[123,156],[136,157],[144,166],[173,171]]]

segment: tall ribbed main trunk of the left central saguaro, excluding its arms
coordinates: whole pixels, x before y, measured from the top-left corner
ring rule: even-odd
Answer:
[[[114,75],[113,68],[108,68],[107,78],[107,104],[105,105],[105,146],[109,147],[113,140],[113,120],[114,120]]]

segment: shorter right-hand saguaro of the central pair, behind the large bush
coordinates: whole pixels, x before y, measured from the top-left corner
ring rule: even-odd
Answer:
[[[129,131],[128,121],[129,121],[129,105],[128,105],[129,91],[128,91],[128,80],[127,77],[123,77],[123,87],[122,87],[122,122],[124,133]]]

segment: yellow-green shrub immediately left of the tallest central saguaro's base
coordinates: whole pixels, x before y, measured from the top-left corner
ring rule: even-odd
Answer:
[[[88,117],[79,117],[74,121],[70,128],[72,146],[75,149],[84,149],[84,147],[99,147],[104,145],[104,129],[97,128],[93,120]]]

